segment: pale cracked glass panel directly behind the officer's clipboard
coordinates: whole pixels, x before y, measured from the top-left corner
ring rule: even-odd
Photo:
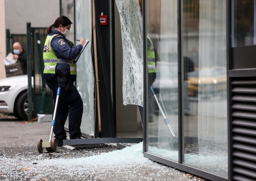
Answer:
[[[94,136],[94,73],[91,55],[92,2],[76,0],[75,4],[76,39],[85,38],[90,41],[77,62],[76,88],[84,102],[81,132]]]

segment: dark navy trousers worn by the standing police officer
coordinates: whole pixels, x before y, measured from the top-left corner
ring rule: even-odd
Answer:
[[[58,91],[58,77],[55,75],[52,79],[45,80],[45,83],[52,91],[53,109],[55,107],[57,91]],[[73,81],[68,80],[68,89],[61,88],[60,96],[58,100],[57,111],[55,115],[55,125],[53,127],[53,133],[55,138],[63,140],[67,138],[64,125],[68,117],[68,130],[69,138],[76,139],[81,136],[81,121],[83,115],[83,101],[73,84]],[[54,112],[54,110],[53,110]],[[52,112],[52,115],[53,115]]]

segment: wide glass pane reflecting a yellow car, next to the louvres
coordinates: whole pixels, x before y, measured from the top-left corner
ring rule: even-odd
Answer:
[[[183,0],[184,163],[228,176],[226,1]]]

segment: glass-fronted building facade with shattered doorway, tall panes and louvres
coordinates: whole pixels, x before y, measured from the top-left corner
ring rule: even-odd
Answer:
[[[84,132],[89,137],[119,137],[124,135],[118,131],[120,125],[129,125],[122,131],[130,131],[126,136],[132,136],[131,130],[135,130],[136,136],[143,136],[143,153],[151,160],[210,180],[255,180],[255,1],[127,2],[62,1],[64,15],[74,14],[71,39],[89,37],[91,47],[96,43],[99,82],[104,80],[99,91],[104,92],[100,98],[105,105],[96,103],[96,94],[92,94],[96,89],[96,69],[91,64],[95,54],[86,50],[78,64],[77,81],[85,103]],[[120,6],[122,3],[128,7]],[[101,12],[108,16],[108,25],[97,24]],[[131,109],[117,106],[122,103],[120,77],[125,75],[120,70],[127,51],[121,47],[128,44],[122,42],[121,34],[134,28],[131,22],[139,22],[143,40],[141,117],[137,105]],[[130,37],[131,45],[139,46],[139,39],[138,33]],[[101,134],[97,104],[103,118]],[[133,117],[118,114],[122,110]]]

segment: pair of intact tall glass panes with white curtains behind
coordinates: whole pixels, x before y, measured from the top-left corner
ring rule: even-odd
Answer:
[[[155,95],[148,90],[145,152],[228,177],[226,1],[183,0],[181,32],[176,0],[146,2]]]

